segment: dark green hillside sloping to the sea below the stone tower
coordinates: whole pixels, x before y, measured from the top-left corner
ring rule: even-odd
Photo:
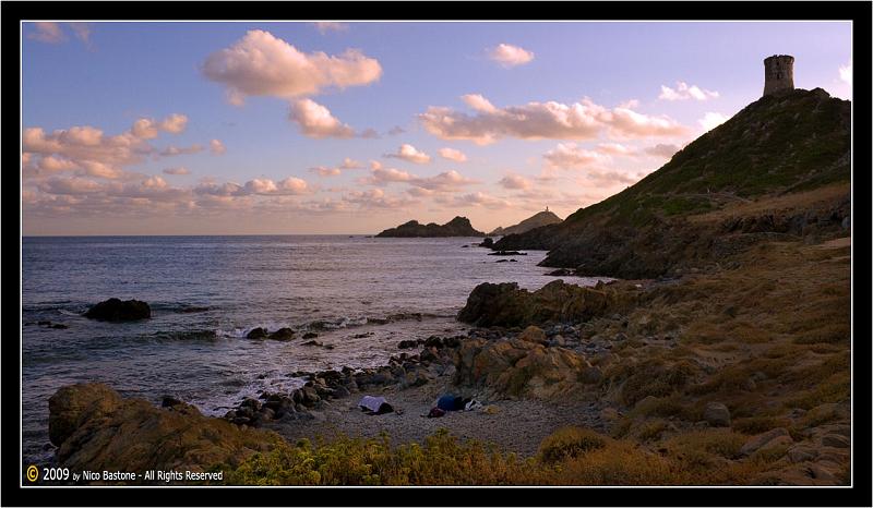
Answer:
[[[543,266],[579,275],[658,277],[715,263],[767,234],[839,230],[850,210],[850,114],[848,100],[821,88],[763,97],[635,185],[494,249],[549,250]],[[816,199],[825,188],[839,191]],[[732,211],[788,194],[806,197]],[[706,215],[713,220],[691,220]]]

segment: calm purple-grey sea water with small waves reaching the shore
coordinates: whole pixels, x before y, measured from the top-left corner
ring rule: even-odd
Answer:
[[[63,385],[104,382],[124,395],[154,401],[174,395],[204,413],[223,414],[260,390],[299,386],[289,376],[294,371],[380,365],[397,353],[400,340],[463,330],[454,316],[480,282],[536,289],[555,279],[536,266],[545,252],[497,263],[509,258],[463,247],[478,241],[25,238],[24,461],[43,463],[51,456],[47,401]],[[112,297],[148,302],[152,319],[118,324],[81,316]],[[316,340],[334,349],[302,346],[301,339],[247,340],[259,326],[316,330]]]

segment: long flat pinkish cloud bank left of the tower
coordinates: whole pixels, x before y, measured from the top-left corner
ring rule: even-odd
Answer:
[[[593,140],[606,131],[614,138],[674,136],[687,129],[666,116],[647,116],[627,106],[607,109],[590,99],[565,105],[528,102],[495,108],[485,97],[464,96],[476,114],[431,106],[418,116],[431,134],[443,140],[467,140],[486,145],[502,137],[523,140]]]

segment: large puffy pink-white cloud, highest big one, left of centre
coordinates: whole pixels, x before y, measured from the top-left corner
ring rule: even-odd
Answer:
[[[249,31],[229,48],[212,53],[203,73],[227,86],[231,104],[247,96],[294,99],[325,88],[369,85],[380,78],[379,61],[358,49],[339,56],[304,53],[264,31]]]

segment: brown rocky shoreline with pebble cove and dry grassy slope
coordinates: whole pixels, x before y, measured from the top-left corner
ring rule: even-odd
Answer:
[[[709,468],[742,471],[730,473],[739,484],[845,484],[850,399],[838,368],[847,351],[839,331],[830,338],[813,327],[768,340],[737,332],[766,302],[779,316],[755,318],[763,327],[757,332],[778,334],[781,323],[797,319],[790,294],[817,287],[810,276],[846,278],[841,261],[849,247],[827,245],[773,244],[764,254],[740,254],[732,270],[681,279],[588,288],[558,280],[537,291],[482,283],[458,313],[475,328],[400,341],[379,368],[289,373],[304,385],[262,392],[224,418],[203,416],[171,398],[156,408],[77,385],[52,397],[50,434],[64,465],[208,471],[303,437],[330,443],[331,435],[387,432],[400,443],[421,443],[439,428],[536,458],[540,442],[577,426],[679,464],[696,457]],[[806,291],[817,295],[809,304],[825,313],[818,320],[839,322],[828,316],[844,293]],[[444,394],[489,410],[423,418]],[[357,402],[364,395],[385,397],[395,411],[362,413]],[[172,444],[157,437],[177,433],[189,437]],[[140,445],[131,448],[134,442]],[[155,456],[155,447],[168,451]]]

